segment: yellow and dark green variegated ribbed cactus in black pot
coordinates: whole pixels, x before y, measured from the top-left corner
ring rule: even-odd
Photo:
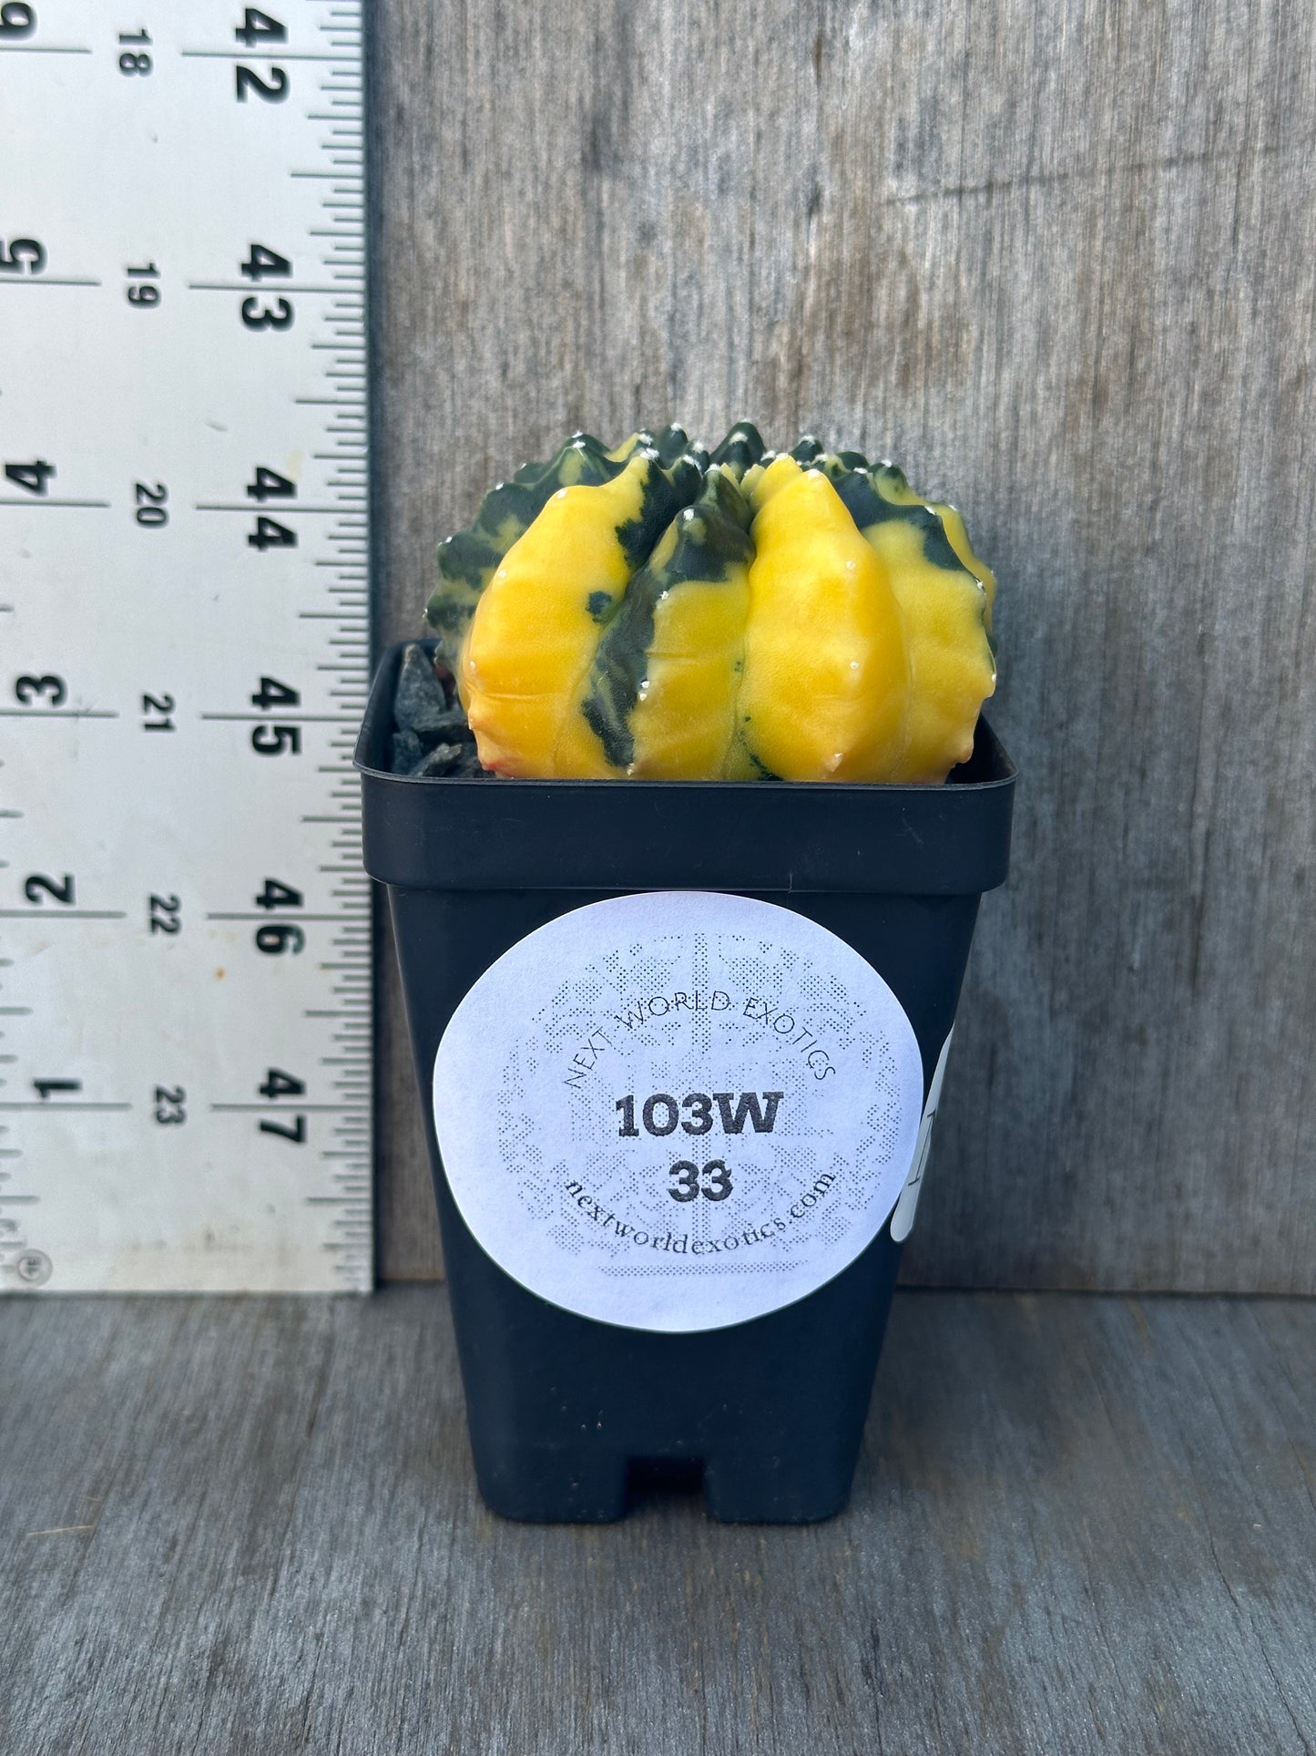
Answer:
[[[955,507],[816,439],[577,434],[440,548],[430,625],[484,767],[942,781],[995,688]]]

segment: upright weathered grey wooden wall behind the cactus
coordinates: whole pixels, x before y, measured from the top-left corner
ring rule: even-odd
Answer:
[[[891,453],[1000,574],[1021,771],[909,1278],[1314,1292],[1305,0],[381,0],[372,54],[379,637],[574,427]]]

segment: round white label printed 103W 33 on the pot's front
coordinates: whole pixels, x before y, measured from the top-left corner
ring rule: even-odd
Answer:
[[[770,903],[591,903],[514,945],[439,1045],[433,1113],[481,1247],[565,1310],[719,1329],[877,1234],[923,1062],[877,971]]]

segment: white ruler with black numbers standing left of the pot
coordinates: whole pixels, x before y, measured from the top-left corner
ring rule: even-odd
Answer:
[[[358,0],[0,5],[0,1289],[370,1285]]]

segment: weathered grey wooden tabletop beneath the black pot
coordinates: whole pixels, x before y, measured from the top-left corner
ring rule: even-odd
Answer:
[[[811,1529],[493,1519],[442,1289],[0,1324],[14,1756],[1311,1756],[1312,1303],[905,1292]]]

